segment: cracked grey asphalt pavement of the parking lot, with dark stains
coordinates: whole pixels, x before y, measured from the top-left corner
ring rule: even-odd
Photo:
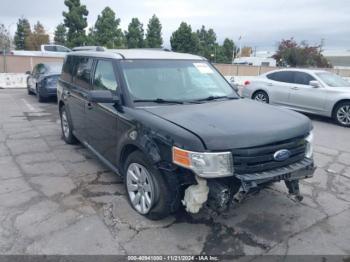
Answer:
[[[118,176],[64,143],[55,101],[0,90],[0,254],[350,256],[350,129],[310,117],[318,168],[303,202],[276,183],[224,214],[150,221]]]

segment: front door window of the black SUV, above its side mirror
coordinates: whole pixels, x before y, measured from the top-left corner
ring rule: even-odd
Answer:
[[[94,90],[116,91],[118,87],[112,61],[99,60],[94,75]]]

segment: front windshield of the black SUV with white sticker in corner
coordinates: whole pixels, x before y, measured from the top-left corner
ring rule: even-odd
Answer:
[[[238,97],[226,80],[205,61],[126,60],[121,64],[134,100],[191,101]]]

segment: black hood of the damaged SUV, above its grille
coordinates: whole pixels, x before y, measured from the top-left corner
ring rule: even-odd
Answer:
[[[304,115],[247,99],[143,109],[194,133],[208,150],[266,145],[312,129]]]

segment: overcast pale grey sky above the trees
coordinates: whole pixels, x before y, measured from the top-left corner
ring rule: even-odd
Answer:
[[[131,18],[137,17],[145,28],[156,14],[163,26],[164,46],[170,47],[170,36],[182,21],[193,30],[201,25],[213,28],[218,42],[226,37],[237,45],[252,46],[257,51],[276,49],[281,39],[294,37],[309,44],[324,39],[327,50],[350,49],[349,0],[81,0],[89,10],[92,26],[106,6],[121,19],[127,29]],[[67,10],[64,0],[1,0],[0,23],[12,35],[16,22],[24,16],[31,24],[40,21],[53,34]],[[241,36],[241,40],[239,38]]]

